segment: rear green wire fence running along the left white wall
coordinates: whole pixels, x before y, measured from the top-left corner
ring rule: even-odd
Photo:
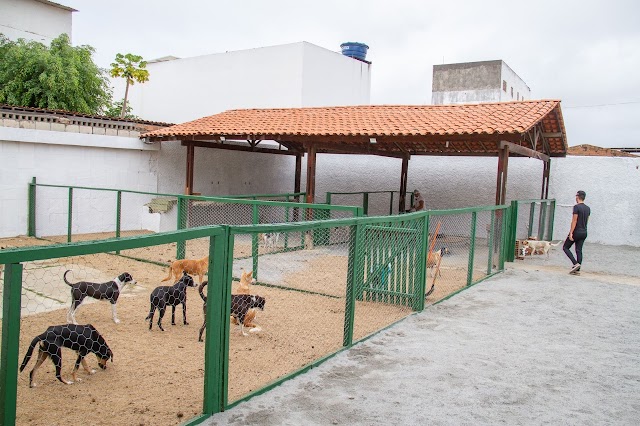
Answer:
[[[304,220],[350,218],[362,215],[361,208],[306,204],[290,200],[304,193],[253,194],[246,196],[206,197],[160,194],[112,188],[29,183],[28,236],[46,238],[55,243],[119,238],[161,231],[189,229],[208,225],[247,225],[290,223]],[[283,199],[269,201],[266,199]],[[152,215],[149,213],[160,213]],[[299,242],[285,239],[282,250],[295,249]],[[238,245],[237,256],[260,250],[259,239]],[[170,259],[200,258],[206,247],[198,241],[178,241],[175,254],[144,259],[167,263]]]

